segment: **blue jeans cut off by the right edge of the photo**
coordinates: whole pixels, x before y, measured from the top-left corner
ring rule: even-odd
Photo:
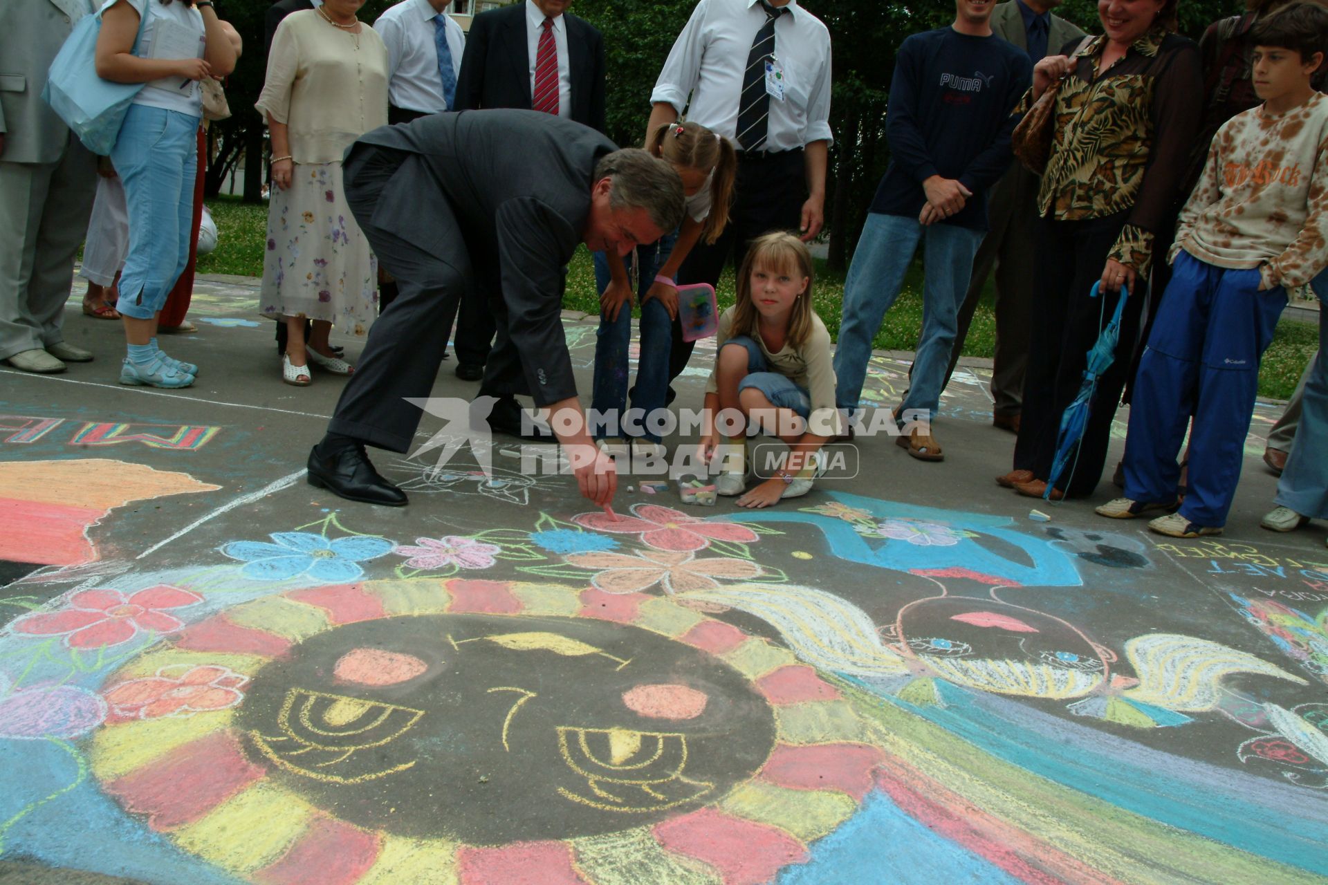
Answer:
[[[1287,468],[1278,482],[1278,503],[1289,507],[1301,516],[1328,519],[1328,358],[1324,358],[1323,340],[1328,337],[1328,309],[1324,309],[1324,296],[1328,295],[1328,271],[1320,273],[1311,284],[1319,296],[1319,353],[1315,368],[1305,381],[1305,393],[1300,401],[1300,427],[1296,429],[1296,442],[1287,458]]]

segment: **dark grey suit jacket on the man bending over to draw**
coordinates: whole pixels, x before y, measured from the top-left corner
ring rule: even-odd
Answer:
[[[576,395],[563,336],[566,267],[590,215],[595,163],[616,146],[534,110],[430,114],[347,151],[400,163],[371,224],[502,292],[507,333],[535,403]],[[457,228],[465,243],[457,243]]]

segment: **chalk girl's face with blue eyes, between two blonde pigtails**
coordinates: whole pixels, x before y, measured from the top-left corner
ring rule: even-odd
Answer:
[[[1073,625],[999,600],[910,602],[899,610],[895,634],[902,654],[948,682],[1031,698],[1084,697],[1108,679],[1116,661]]]

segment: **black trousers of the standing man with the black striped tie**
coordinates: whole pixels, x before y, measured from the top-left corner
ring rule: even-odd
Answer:
[[[733,268],[742,267],[748,244],[770,231],[797,232],[802,223],[802,204],[807,199],[807,179],[802,151],[777,154],[738,154],[738,175],[729,223],[713,245],[699,241],[679,268],[680,285],[709,283],[717,285],[724,263],[733,253]],[[692,358],[693,341],[683,341],[683,326],[673,320],[673,342],[669,350],[668,378],[677,378]]]

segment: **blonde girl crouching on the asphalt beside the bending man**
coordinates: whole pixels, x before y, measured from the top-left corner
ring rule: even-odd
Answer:
[[[705,386],[705,433],[697,455],[720,459],[716,491],[742,495],[738,507],[769,507],[811,490],[819,454],[839,433],[830,333],[811,308],[811,253],[797,236],[752,241],[737,277],[737,301],[720,316],[714,368]],[[744,494],[741,438],[765,431],[789,446],[769,479]],[[737,438],[725,444],[725,438]]]

